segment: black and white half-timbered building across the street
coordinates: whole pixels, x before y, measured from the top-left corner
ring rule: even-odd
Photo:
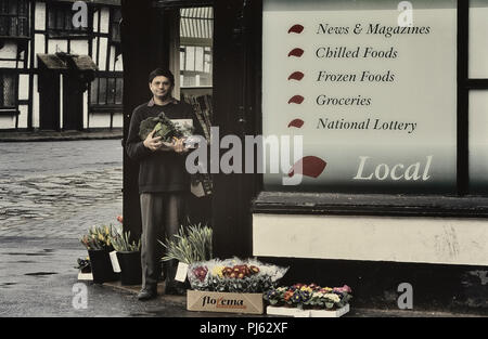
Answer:
[[[0,130],[123,126],[120,1],[0,0]]]

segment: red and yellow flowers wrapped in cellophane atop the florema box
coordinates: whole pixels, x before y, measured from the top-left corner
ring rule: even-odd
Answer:
[[[196,290],[259,294],[275,287],[287,270],[257,260],[215,259],[190,265],[188,278]]]

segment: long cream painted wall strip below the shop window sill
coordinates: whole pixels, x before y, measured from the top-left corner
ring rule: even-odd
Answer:
[[[488,220],[254,214],[253,255],[488,265]]]

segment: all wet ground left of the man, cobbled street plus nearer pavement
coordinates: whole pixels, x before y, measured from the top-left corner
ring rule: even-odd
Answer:
[[[74,266],[87,256],[78,239],[121,214],[121,159],[120,140],[0,143],[0,315],[132,312],[95,285],[89,312],[72,305]]]

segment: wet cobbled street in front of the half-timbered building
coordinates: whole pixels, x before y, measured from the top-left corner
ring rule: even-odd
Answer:
[[[120,141],[0,143],[0,236],[78,238],[121,213]]]

